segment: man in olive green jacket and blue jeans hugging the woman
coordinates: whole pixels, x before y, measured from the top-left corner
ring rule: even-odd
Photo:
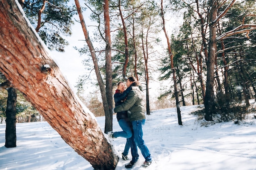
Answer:
[[[128,118],[132,123],[135,143],[139,147],[139,149],[141,150],[141,154],[145,158],[145,162],[142,166],[148,167],[153,160],[144,140],[142,139],[142,127],[145,124],[146,117],[144,111],[144,102],[141,95],[140,83],[139,81],[135,81],[134,77],[129,77],[126,85],[127,87],[131,86],[132,90],[129,92],[126,101],[114,108],[114,112],[116,113],[128,110]],[[126,164],[125,167],[132,168],[136,161],[130,161],[130,163]]]

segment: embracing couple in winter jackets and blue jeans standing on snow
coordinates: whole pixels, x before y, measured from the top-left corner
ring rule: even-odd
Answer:
[[[117,113],[117,121],[122,128],[122,132],[108,132],[110,138],[127,138],[122,159],[128,160],[128,151],[131,148],[132,160],[125,165],[126,168],[132,168],[139,159],[137,147],[145,158],[142,167],[148,167],[152,163],[152,157],[142,139],[142,127],[145,124],[144,102],[141,95],[141,86],[134,77],[129,77],[127,89],[123,82],[117,84],[117,90],[114,94],[115,108],[113,112]]]

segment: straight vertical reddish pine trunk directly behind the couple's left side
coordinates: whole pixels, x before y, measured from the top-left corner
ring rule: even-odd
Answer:
[[[104,23],[105,23],[105,40],[106,40],[106,50],[105,50],[105,67],[106,67],[106,96],[108,101],[108,112],[105,112],[105,133],[112,131],[112,121],[113,121],[113,92],[112,92],[112,60],[111,60],[111,38],[110,38],[110,18],[108,9],[108,0],[104,0]]]

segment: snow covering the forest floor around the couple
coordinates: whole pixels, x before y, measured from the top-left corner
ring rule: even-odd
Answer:
[[[180,109],[182,126],[177,123],[175,108],[146,115],[144,140],[154,160],[147,170],[256,169],[256,113],[239,124],[213,124],[190,114],[198,105]],[[96,119],[104,131],[105,117]],[[121,130],[115,115],[113,130]],[[17,123],[16,134],[17,147],[5,148],[5,124],[0,125],[0,170],[93,170],[47,122]],[[110,141],[121,157],[126,139]],[[139,161],[130,170],[145,169],[140,167],[144,158],[138,151]],[[116,170],[126,170],[128,162],[119,159]]]

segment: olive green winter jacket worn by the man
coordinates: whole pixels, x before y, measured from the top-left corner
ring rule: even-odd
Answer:
[[[139,82],[133,82],[132,90],[129,92],[126,101],[114,109],[115,113],[128,110],[127,114],[130,121],[146,119],[144,102],[138,85]]]

